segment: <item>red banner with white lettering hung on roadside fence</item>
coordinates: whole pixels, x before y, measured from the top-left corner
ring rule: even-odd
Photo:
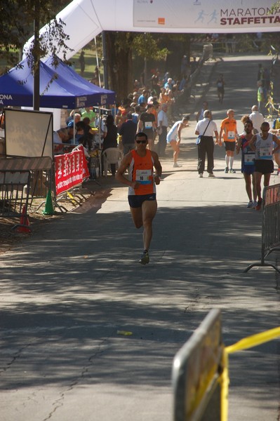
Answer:
[[[81,184],[89,177],[88,163],[84,150],[79,149],[70,154],[55,155],[55,190],[56,194],[66,192]]]

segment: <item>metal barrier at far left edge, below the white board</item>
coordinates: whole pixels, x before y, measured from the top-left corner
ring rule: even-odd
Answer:
[[[0,171],[0,218],[20,218],[15,227],[25,227],[30,182],[30,171]]]

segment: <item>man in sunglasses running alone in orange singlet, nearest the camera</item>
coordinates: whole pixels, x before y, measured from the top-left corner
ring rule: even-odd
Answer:
[[[135,149],[121,161],[116,180],[128,186],[128,203],[136,228],[143,227],[144,250],[139,260],[141,265],[149,263],[149,245],[152,241],[152,221],[156,215],[156,185],[160,183],[161,163],[154,151],[147,149],[145,133],[135,135]],[[124,173],[128,169],[128,178]],[[154,169],[156,173],[154,174]]]

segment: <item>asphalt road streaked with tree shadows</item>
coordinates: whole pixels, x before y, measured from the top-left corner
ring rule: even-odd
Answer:
[[[218,126],[228,108],[238,120],[250,112],[266,60],[204,69],[197,96],[207,91]],[[173,168],[170,149],[162,160],[149,265],[138,264],[142,233],[127,189],[110,178],[101,180],[105,197],[1,255],[1,421],[172,420],[173,357],[210,309],[221,309],[225,345],[279,326],[279,275],[244,274],[260,259],[261,213],[246,208],[240,157],[236,174],[225,174],[215,147],[216,177],[199,179],[194,128],[192,116],[182,167]],[[229,421],[279,419],[279,344],[230,356]]]

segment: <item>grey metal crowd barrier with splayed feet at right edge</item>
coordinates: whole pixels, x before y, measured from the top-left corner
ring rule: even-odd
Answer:
[[[272,262],[266,262],[272,251],[280,250],[280,184],[265,187],[262,194],[262,249],[260,262],[249,265],[244,272],[254,266],[270,266],[280,273]]]

